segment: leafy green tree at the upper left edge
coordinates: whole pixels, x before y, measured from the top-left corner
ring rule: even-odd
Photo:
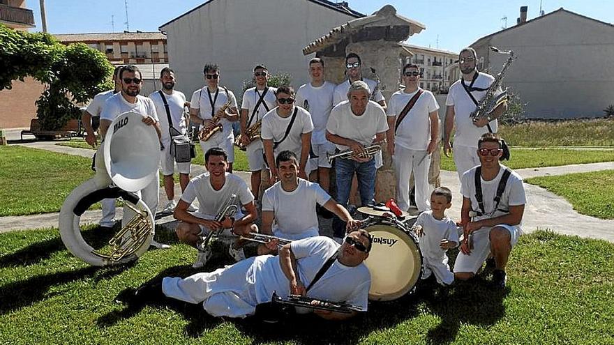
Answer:
[[[48,33],[15,31],[0,24],[0,91],[25,77],[45,84],[36,101],[43,130],[58,130],[70,118],[79,118],[75,103],[112,89],[112,71],[103,53],[83,43],[66,46]]]

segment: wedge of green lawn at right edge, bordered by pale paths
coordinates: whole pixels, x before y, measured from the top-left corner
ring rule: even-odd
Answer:
[[[526,182],[564,197],[578,213],[614,219],[614,170],[541,176]]]

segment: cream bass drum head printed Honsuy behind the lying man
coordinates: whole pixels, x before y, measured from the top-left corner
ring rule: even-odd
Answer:
[[[412,291],[422,274],[422,256],[417,241],[393,225],[365,228],[373,247],[364,261],[371,274],[369,300],[395,300]]]

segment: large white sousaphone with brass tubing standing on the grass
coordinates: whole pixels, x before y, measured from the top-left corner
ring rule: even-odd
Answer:
[[[142,118],[136,112],[115,118],[96,153],[96,176],[70,192],[60,210],[62,242],[73,255],[93,266],[134,261],[153,239],[153,214],[137,192],[158,178],[160,143],[156,129]],[[121,198],[126,207],[122,229],[103,252],[86,243],[79,222],[91,205],[105,198]]]

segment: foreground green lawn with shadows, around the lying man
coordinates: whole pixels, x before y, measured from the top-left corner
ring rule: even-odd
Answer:
[[[193,273],[195,252],[185,245],[149,251],[133,266],[93,268],[45,229],[0,234],[0,253],[3,344],[614,342],[614,245],[546,231],[514,248],[506,291],[479,277],[437,298],[426,291],[371,303],[368,314],[343,323],[293,316],[267,325],[216,319],[199,306],[119,302],[153,277]]]

